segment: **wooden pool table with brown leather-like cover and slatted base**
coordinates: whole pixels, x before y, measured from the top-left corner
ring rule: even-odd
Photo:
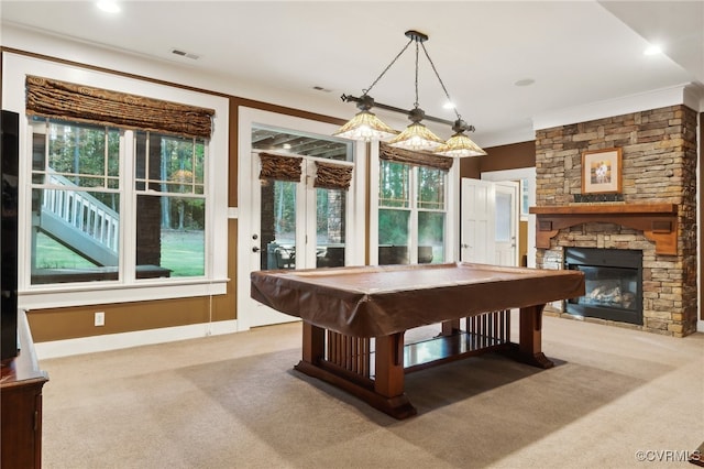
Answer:
[[[416,414],[405,373],[501,351],[540,368],[542,309],[584,295],[578,271],[476,263],[345,266],[251,274],[251,296],[302,319],[295,369],[337,385],[396,418]],[[510,309],[519,313],[510,340]],[[437,337],[404,334],[441,324]]]

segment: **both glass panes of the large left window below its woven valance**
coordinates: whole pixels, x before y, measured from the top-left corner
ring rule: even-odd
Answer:
[[[206,140],[30,122],[32,285],[206,274]]]

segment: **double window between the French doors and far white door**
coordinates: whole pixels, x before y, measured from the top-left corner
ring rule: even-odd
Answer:
[[[380,161],[378,263],[444,261],[447,171]]]

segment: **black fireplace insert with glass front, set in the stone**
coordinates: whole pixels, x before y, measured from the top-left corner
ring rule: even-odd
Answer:
[[[642,252],[568,248],[565,268],[584,273],[585,294],[566,302],[578,316],[642,324]]]

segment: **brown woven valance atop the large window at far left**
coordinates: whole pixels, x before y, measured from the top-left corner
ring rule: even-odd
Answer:
[[[213,109],[28,75],[26,113],[101,126],[210,138]]]

